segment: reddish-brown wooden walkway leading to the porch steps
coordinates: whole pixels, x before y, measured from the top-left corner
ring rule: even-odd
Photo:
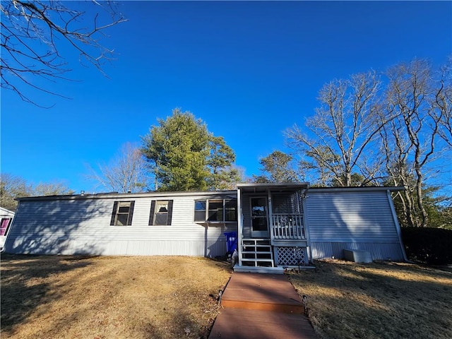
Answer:
[[[304,306],[285,275],[232,274],[209,339],[316,339]]]

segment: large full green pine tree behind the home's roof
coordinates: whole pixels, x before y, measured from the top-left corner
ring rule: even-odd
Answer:
[[[174,109],[172,116],[157,121],[142,138],[142,151],[153,166],[158,190],[225,189],[239,180],[232,168],[234,151],[201,119]]]

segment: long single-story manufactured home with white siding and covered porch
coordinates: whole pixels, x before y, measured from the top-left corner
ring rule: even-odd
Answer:
[[[18,198],[5,250],[15,254],[225,256],[237,270],[282,270],[366,251],[406,260],[391,191],[238,184],[230,191]]]

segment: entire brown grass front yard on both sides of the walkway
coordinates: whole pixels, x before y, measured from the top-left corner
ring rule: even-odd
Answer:
[[[321,339],[452,338],[452,272],[317,261],[288,273]],[[207,338],[227,263],[1,256],[1,338]]]

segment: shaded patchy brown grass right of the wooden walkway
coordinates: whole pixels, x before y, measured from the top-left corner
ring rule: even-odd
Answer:
[[[318,261],[290,280],[322,339],[452,338],[451,271]]]

